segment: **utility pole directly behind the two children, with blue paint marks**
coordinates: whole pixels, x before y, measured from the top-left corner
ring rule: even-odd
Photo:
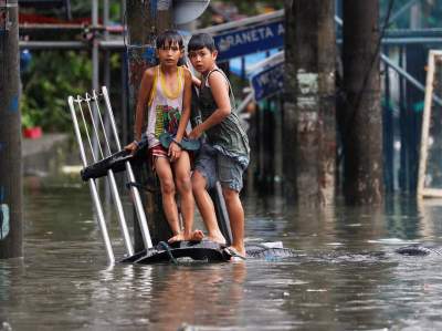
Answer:
[[[129,118],[135,118],[138,87],[145,70],[154,65],[155,38],[171,27],[171,0],[143,1],[128,0],[127,18],[128,25],[128,63],[129,63]],[[146,116],[147,118],[147,116]],[[147,163],[146,163],[147,164]],[[149,188],[145,195],[146,216],[149,224],[154,245],[160,240],[171,237],[171,231],[162,213],[161,193],[156,177],[151,173],[149,165],[143,173],[147,173],[147,178],[143,182],[149,183]],[[139,180],[140,176],[137,176]],[[135,221],[135,250],[143,249],[141,235]]]

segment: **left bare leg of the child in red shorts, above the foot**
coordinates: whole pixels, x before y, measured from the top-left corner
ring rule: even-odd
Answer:
[[[157,157],[155,169],[161,187],[162,208],[173,236],[180,234],[178,208],[175,200],[173,174],[166,157]]]

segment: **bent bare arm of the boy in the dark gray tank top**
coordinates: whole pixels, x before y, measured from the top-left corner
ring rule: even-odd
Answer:
[[[232,111],[229,97],[229,85],[225,77],[220,72],[214,71],[209,76],[209,84],[218,108],[209,116],[209,118],[193,128],[190,133],[190,137],[192,138],[198,138],[204,131],[221,123]]]

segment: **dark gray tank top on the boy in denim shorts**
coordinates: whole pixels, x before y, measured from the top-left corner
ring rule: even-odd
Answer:
[[[219,71],[229,84],[231,112],[228,117],[222,120],[221,123],[213,125],[208,131],[206,131],[208,142],[215,148],[221,147],[221,149],[223,149],[221,152],[223,152],[228,156],[245,156],[246,158],[249,158],[249,138],[244,128],[241,126],[240,118],[236,114],[236,108],[233,101],[233,91],[230,86],[228,77],[219,68],[210,71],[206,76],[206,80],[201,82],[199,107],[202,121],[206,121],[218,108],[218,105],[212,95],[212,90],[207,86],[207,81],[209,80],[209,76],[213,71]]]

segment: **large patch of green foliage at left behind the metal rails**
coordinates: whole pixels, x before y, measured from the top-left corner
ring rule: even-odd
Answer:
[[[23,127],[67,131],[71,117],[66,99],[90,90],[92,63],[86,52],[44,51],[33,54],[23,73],[21,112]]]

